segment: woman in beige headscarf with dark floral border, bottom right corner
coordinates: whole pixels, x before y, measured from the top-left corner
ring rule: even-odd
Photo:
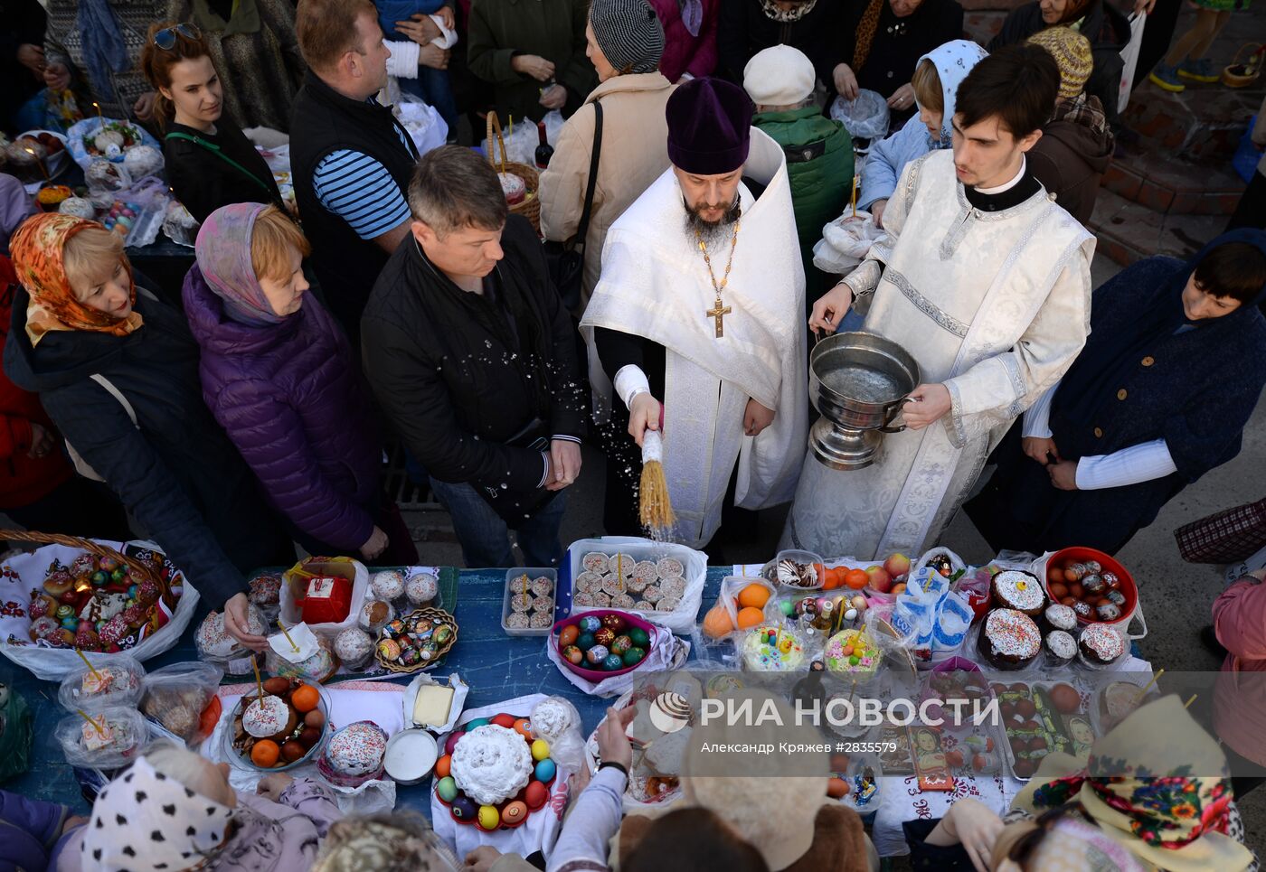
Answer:
[[[1036,816],[1036,818],[1034,818]],[[1177,696],[1133,711],[1089,759],[1042,758],[1006,826],[958,800],[941,820],[908,821],[914,868],[1006,872],[1243,872],[1253,854],[1231,794],[1227,758]]]

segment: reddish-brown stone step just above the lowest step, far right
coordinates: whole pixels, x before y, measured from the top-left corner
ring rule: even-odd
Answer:
[[[1231,215],[1246,186],[1229,163],[1196,165],[1146,147],[1114,159],[1103,187],[1162,214]]]

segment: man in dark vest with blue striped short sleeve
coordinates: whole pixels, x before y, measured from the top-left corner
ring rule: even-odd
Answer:
[[[418,149],[375,99],[391,51],[370,0],[300,0],[295,28],[309,67],[290,121],[295,197],[329,309],[358,344],[373,282],[409,235]]]

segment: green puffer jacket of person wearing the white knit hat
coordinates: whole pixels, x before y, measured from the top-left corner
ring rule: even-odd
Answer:
[[[827,290],[813,266],[813,247],[823,225],[839,218],[853,186],[853,139],[839,121],[817,106],[761,113],[752,119],[787,156],[791,206],[804,262],[805,302],[812,305]],[[806,159],[808,158],[808,159]]]

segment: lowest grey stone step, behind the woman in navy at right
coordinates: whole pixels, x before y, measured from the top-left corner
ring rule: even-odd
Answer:
[[[1188,258],[1225,225],[1225,215],[1165,214],[1100,189],[1087,229],[1099,239],[1099,253],[1129,266],[1155,254]]]

